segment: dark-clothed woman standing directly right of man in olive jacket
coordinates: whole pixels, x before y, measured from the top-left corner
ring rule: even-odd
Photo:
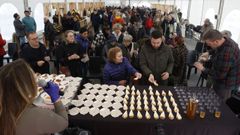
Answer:
[[[173,48],[174,67],[173,76],[174,84],[183,84],[186,72],[186,59],[188,50],[184,44],[184,39],[181,36],[174,38],[176,46]]]

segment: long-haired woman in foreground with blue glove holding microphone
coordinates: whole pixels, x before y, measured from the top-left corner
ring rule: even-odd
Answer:
[[[37,96],[34,72],[19,59],[0,69],[0,134],[43,135],[68,126],[68,115],[60,100],[59,87],[49,82],[44,91],[51,97],[54,110],[33,104]]]

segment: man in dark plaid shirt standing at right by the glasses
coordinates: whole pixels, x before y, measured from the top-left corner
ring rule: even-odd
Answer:
[[[224,100],[231,94],[237,94],[240,85],[240,51],[238,44],[230,38],[225,38],[218,30],[209,30],[203,35],[203,40],[214,50],[211,69],[202,63],[195,66],[213,80],[213,89]],[[208,54],[206,54],[208,57]]]

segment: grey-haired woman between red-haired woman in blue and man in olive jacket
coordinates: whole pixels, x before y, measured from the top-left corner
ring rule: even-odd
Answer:
[[[138,58],[138,51],[139,46],[132,42],[133,37],[129,34],[126,34],[123,37],[123,44],[120,45],[122,49],[123,57],[128,58],[130,63],[136,67],[137,66],[137,58]]]

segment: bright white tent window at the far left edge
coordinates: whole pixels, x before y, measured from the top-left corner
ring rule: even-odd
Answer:
[[[0,29],[4,39],[11,40],[15,32],[13,25],[13,14],[18,13],[17,8],[11,3],[4,3],[0,6]]]

